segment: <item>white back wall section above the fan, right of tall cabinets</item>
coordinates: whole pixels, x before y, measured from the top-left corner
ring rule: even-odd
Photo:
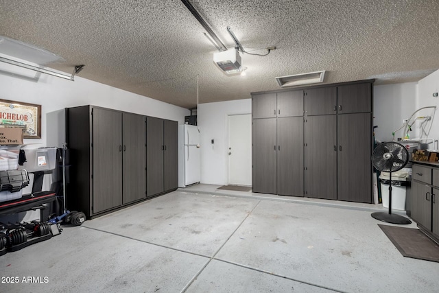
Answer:
[[[385,84],[373,87],[373,125],[377,141],[392,141],[392,132],[403,126],[416,109],[416,82]],[[403,129],[395,133],[395,139],[403,137]]]

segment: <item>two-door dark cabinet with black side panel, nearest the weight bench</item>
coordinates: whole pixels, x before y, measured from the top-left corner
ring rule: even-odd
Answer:
[[[95,106],[66,108],[68,209],[93,218],[145,198],[145,119]]]

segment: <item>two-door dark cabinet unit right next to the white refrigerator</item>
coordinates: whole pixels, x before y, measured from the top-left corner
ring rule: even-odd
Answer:
[[[147,117],[147,197],[178,187],[178,124]]]

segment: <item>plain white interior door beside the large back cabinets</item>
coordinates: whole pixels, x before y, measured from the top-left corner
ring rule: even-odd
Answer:
[[[228,116],[228,184],[252,185],[252,115]]]

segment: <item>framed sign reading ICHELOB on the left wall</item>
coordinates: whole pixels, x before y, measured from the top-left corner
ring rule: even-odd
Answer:
[[[23,128],[23,138],[41,138],[41,105],[0,99],[0,127]]]

